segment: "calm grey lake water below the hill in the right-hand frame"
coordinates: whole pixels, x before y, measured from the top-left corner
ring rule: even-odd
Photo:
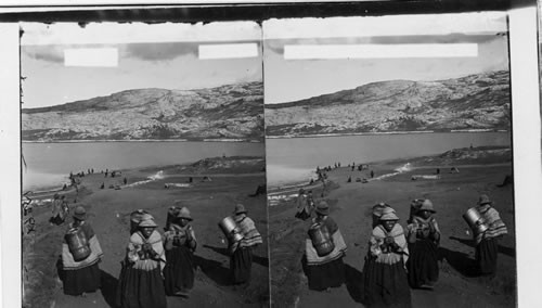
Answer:
[[[443,132],[267,139],[269,187],[309,181],[317,166],[364,164],[440,154],[482,145],[511,145],[509,132]]]

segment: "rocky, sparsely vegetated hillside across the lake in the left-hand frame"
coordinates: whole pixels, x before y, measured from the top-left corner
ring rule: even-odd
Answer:
[[[263,85],[137,89],[22,111],[25,141],[263,140]]]

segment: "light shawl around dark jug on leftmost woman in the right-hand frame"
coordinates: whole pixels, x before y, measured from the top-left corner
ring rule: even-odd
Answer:
[[[312,241],[310,240],[310,238],[307,238],[305,240],[307,264],[309,266],[320,266],[341,258],[347,251],[347,246],[337,223],[328,216],[325,216],[323,220],[313,219],[312,222],[322,222],[325,224],[325,227],[332,234],[332,241],[335,245],[335,248],[328,255],[320,257],[317,253],[317,248],[314,248],[314,245],[312,245]]]

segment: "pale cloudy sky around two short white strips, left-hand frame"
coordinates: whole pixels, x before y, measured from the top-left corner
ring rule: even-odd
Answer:
[[[143,29],[143,30],[141,30]],[[140,88],[195,89],[261,81],[261,30],[210,25],[23,25],[23,107],[57,105]],[[258,56],[199,60],[198,44],[256,42]],[[116,67],[65,66],[67,48],[118,49]]]

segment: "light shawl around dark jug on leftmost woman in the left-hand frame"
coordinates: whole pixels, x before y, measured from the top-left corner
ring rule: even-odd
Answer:
[[[74,224],[70,224],[70,228],[73,227]],[[64,241],[64,243],[62,244],[62,266],[64,270],[82,269],[92,266],[94,264],[98,264],[100,259],[103,257],[102,247],[100,246],[100,242],[98,241],[98,238],[94,234],[94,230],[92,230],[92,227],[82,221],[81,224],[79,224],[79,228],[82,229],[85,235],[89,241],[90,256],[88,256],[82,261],[79,262],[75,261],[74,256],[69,252],[68,244]]]

